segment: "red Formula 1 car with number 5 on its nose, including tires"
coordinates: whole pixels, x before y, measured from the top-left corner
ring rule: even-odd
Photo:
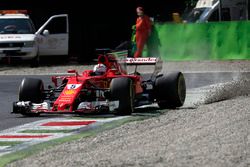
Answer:
[[[48,90],[44,89],[42,80],[24,78],[19,88],[19,101],[13,103],[13,113],[37,116],[40,113],[108,111],[130,115],[134,108],[146,104],[158,103],[160,108],[183,105],[186,86],[181,72],[160,74],[159,58],[124,58],[117,56],[119,54],[121,52],[98,57],[98,63],[107,67],[103,74],[93,70],[81,74],[68,70],[67,76],[52,76],[54,86],[48,86]],[[133,73],[128,74],[127,64],[135,65]],[[139,64],[154,64],[150,79],[143,80],[137,72]]]

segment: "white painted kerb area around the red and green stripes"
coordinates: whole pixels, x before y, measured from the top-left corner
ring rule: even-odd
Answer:
[[[0,156],[19,151],[25,148],[28,148],[34,144],[38,144],[41,142],[46,142],[52,139],[58,139],[66,136],[70,136],[72,134],[75,134],[77,130],[86,130],[88,128],[95,128],[98,126],[102,126],[104,123],[107,122],[112,122],[115,120],[121,120],[124,118],[128,118],[129,116],[122,116],[122,117],[111,117],[111,118],[98,118],[98,119],[91,119],[91,118],[86,118],[86,119],[68,119],[68,118],[51,118],[51,119],[45,119],[45,120],[40,120],[32,123],[27,123],[21,126],[9,128],[3,131],[0,131],[0,138],[1,142],[16,142],[20,141],[22,143],[14,145],[14,146],[1,146],[0,147]],[[46,123],[51,123],[51,122],[81,122],[81,121],[96,121],[94,123],[91,123],[89,125],[76,125],[76,126],[41,126]],[[60,132],[55,132],[55,133],[23,133],[23,131],[27,130],[75,130],[72,132],[68,133],[60,133]],[[45,135],[45,137],[43,137]],[[7,136],[7,138],[5,138]],[[12,136],[14,136],[12,138]],[[19,136],[23,136],[21,138],[18,138]],[[25,138],[25,136],[27,138]],[[34,137],[33,136],[41,136],[41,137]]]

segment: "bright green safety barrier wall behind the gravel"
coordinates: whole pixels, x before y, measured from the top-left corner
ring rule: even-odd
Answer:
[[[250,59],[250,22],[155,24],[148,55],[167,61]],[[144,52],[144,55],[147,55]]]

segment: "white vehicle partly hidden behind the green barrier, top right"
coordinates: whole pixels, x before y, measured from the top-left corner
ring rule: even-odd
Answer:
[[[236,21],[248,19],[248,0],[199,0],[184,22]]]

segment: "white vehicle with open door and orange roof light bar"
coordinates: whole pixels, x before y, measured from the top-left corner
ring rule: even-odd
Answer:
[[[68,55],[68,15],[54,15],[35,30],[26,10],[0,11],[0,59],[18,57],[39,64],[40,56]]]

